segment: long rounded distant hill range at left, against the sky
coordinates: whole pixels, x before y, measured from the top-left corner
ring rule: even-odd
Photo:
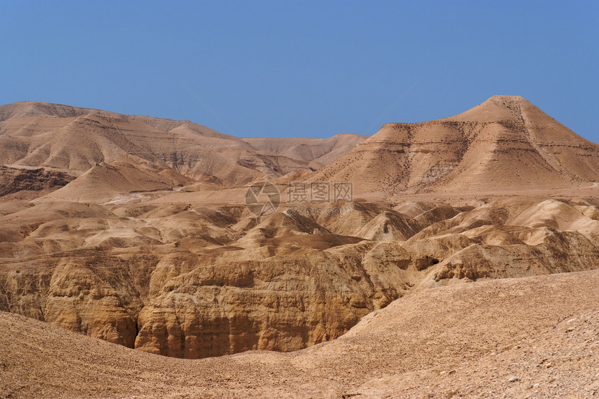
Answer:
[[[265,149],[259,149],[188,120],[35,101],[0,106],[2,165],[45,168],[74,176],[98,163],[127,161],[159,170],[172,168],[195,179],[211,177],[225,185],[245,184],[307,170],[312,161],[320,166],[357,142],[351,135],[322,140],[326,145],[317,152],[314,140],[296,139],[296,147],[309,150],[286,152],[262,139],[260,145]]]

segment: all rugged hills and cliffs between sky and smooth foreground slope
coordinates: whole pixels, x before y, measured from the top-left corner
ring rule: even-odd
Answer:
[[[0,119],[0,310],[128,348],[300,350],[429,288],[598,265],[598,146],[521,97],[363,141],[43,103]],[[256,179],[272,214],[244,205]],[[294,179],[355,196],[294,207]]]

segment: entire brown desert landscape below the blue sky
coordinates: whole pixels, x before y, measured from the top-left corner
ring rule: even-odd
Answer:
[[[0,106],[0,398],[599,397],[599,145],[339,133]]]

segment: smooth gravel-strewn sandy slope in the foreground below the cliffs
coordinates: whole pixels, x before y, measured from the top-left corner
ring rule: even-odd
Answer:
[[[188,360],[0,312],[6,398],[593,398],[599,272],[433,288],[291,353]]]

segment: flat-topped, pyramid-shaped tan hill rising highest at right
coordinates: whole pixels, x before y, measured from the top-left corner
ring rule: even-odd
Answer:
[[[589,186],[599,181],[599,145],[522,97],[493,96],[453,117],[385,124],[310,179],[386,195]]]

